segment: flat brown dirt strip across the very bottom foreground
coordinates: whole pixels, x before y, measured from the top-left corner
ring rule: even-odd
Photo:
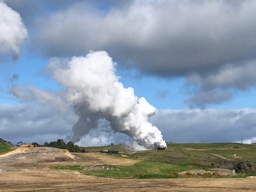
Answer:
[[[102,179],[71,171],[0,173],[0,191],[256,191],[256,179]]]

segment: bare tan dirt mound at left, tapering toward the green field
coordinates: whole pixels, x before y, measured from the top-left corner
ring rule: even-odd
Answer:
[[[10,170],[35,170],[49,168],[51,165],[131,165],[138,161],[129,158],[118,158],[100,153],[73,153],[66,149],[52,147],[17,148],[12,152],[0,155],[0,172]]]

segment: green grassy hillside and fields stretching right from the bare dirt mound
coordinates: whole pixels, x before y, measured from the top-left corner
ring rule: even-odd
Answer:
[[[115,166],[115,169],[92,170],[83,166],[54,166],[54,169],[77,170],[86,175],[97,177],[122,178],[175,178],[177,173],[188,170],[211,168],[236,169],[237,164],[256,162],[256,145],[239,143],[209,143],[209,144],[176,144],[168,143],[166,150],[146,150],[140,152],[127,152],[124,145],[108,147],[86,147],[86,150],[118,149],[127,157],[120,154],[109,154],[118,158],[132,158],[140,160],[132,166]],[[236,156],[234,155],[236,154]],[[108,166],[108,165],[106,165]],[[250,175],[255,175],[253,169]],[[248,173],[249,174],[249,173]],[[211,177],[220,177],[215,175]],[[231,176],[229,176],[231,177]],[[242,173],[234,177],[246,177]]]

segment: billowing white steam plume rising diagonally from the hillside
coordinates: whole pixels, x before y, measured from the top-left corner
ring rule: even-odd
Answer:
[[[105,51],[74,56],[71,60],[51,60],[49,67],[54,79],[67,88],[67,99],[79,115],[73,140],[81,140],[104,119],[114,131],[127,134],[139,145],[166,147],[161,131],[149,122],[156,108],[145,98],[136,97],[133,88],[124,88],[115,75],[115,65]]]

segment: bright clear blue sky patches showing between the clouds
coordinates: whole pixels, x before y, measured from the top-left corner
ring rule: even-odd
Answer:
[[[36,54],[31,54],[24,47],[24,51],[19,60],[12,61],[12,64],[3,66],[5,76],[1,84],[6,84],[8,78],[13,74],[19,74],[19,79],[13,84],[33,85],[43,90],[56,91],[63,87],[52,79],[50,74],[47,74],[47,65],[49,59],[43,58]],[[7,71],[7,72],[6,72]],[[188,104],[184,103],[189,97],[189,92],[184,87],[185,79],[182,77],[168,79],[157,76],[143,75],[139,70],[117,67],[116,74],[121,77],[120,81],[125,87],[132,87],[138,97],[145,97],[157,109],[184,109],[189,108]],[[8,91],[10,83],[6,84],[5,90]],[[17,100],[8,93],[2,93],[0,102],[2,103],[17,103]],[[207,108],[213,109],[239,109],[239,108],[255,108],[255,88],[236,92],[234,97],[227,102],[221,104],[211,104]]]

